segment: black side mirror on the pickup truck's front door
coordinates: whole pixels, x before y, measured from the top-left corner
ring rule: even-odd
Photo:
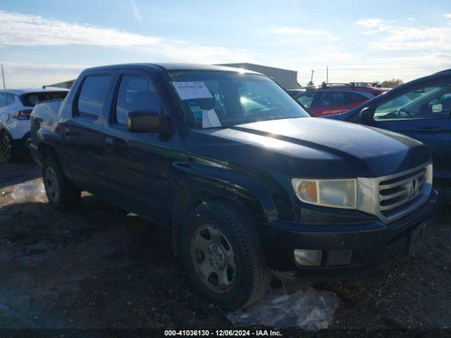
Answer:
[[[164,132],[168,120],[152,110],[130,111],[127,115],[127,130],[129,132]]]

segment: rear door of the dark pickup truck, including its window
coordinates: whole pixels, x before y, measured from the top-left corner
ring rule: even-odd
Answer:
[[[103,122],[109,111],[113,73],[88,73],[75,94],[72,118],[63,123],[70,175],[82,189],[106,196]]]

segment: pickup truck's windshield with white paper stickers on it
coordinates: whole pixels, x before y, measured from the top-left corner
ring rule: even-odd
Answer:
[[[307,118],[290,94],[264,75],[209,70],[168,72],[190,127],[205,129]]]

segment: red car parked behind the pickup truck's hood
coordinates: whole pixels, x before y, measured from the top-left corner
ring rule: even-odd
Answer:
[[[374,96],[386,92],[389,88],[370,87],[367,85],[326,84],[319,87],[291,89],[288,92],[299,101],[311,115],[324,116],[350,111]]]

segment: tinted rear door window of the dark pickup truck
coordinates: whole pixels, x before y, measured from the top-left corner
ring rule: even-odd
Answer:
[[[78,115],[85,118],[97,118],[104,108],[110,75],[86,77],[78,96]]]

